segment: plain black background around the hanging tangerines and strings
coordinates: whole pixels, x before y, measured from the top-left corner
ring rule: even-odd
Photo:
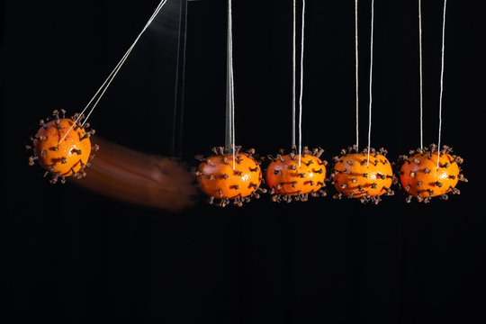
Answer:
[[[290,145],[292,2],[233,2],[237,142],[275,153]],[[169,3],[90,119],[99,136],[157,155],[170,154],[173,139],[178,5]],[[307,3],[303,143],[330,160],[355,141],[354,2]],[[359,9],[361,146],[370,4]],[[437,142],[442,4],[423,4],[426,144]],[[47,183],[23,148],[37,121],[84,108],[156,5],[0,3],[4,322],[484,320],[482,1],[448,2],[442,142],[464,157],[470,182],[446,202],[265,197],[169,213]],[[419,146],[418,8],[375,8],[372,146],[396,159]],[[186,160],[224,142],[225,46],[226,2],[190,3]]]

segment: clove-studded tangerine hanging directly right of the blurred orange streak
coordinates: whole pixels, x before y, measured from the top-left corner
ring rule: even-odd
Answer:
[[[209,202],[219,201],[224,207],[232,201],[241,206],[251,197],[259,198],[262,170],[254,157],[255,149],[241,152],[235,148],[235,154],[227,153],[224,148],[212,148],[210,157],[196,157],[201,161],[195,175],[203,193],[210,196]]]

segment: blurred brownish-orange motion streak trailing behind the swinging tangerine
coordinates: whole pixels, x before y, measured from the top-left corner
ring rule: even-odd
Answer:
[[[73,183],[123,202],[167,211],[183,211],[195,203],[195,179],[177,160],[140,153],[99,137],[93,141],[100,150],[85,178]]]

